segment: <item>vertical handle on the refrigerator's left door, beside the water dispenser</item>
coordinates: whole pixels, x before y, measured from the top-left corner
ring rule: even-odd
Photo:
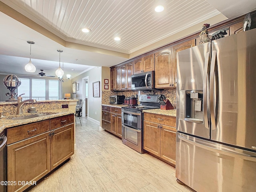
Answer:
[[[206,53],[204,62],[204,87],[203,87],[203,107],[204,107],[204,126],[209,129],[209,121],[208,121],[208,110],[207,110],[207,84],[210,73],[210,52]]]

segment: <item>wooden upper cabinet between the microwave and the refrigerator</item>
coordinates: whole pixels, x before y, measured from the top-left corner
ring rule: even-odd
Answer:
[[[177,52],[192,46],[195,46],[194,39],[155,54],[155,88],[177,86]]]

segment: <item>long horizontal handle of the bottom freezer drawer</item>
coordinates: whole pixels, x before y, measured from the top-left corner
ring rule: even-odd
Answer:
[[[253,154],[249,155],[249,154],[243,153],[242,151],[244,151],[244,150],[229,147],[229,146],[224,146],[224,145],[213,143],[213,142],[210,142],[210,141],[202,141],[201,140],[200,142],[202,142],[202,143],[199,143],[199,142],[195,142],[195,141],[192,141],[190,139],[184,138],[181,135],[178,135],[178,138],[180,140],[184,141],[184,142],[187,142],[189,144],[192,144],[194,146],[197,146],[197,147],[200,147],[200,148],[203,148],[203,149],[206,149],[206,150],[210,150],[210,151],[215,152],[215,153],[224,154],[224,155],[227,155],[227,156],[232,156],[232,157],[241,158],[241,159],[244,159],[244,160],[250,160],[250,161],[256,162],[256,153],[254,153],[254,152],[251,152]],[[216,145],[213,145],[213,144],[216,144]]]

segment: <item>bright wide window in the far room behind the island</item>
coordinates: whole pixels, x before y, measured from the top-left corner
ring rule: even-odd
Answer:
[[[23,100],[58,100],[60,98],[60,81],[44,78],[20,78],[18,95]]]

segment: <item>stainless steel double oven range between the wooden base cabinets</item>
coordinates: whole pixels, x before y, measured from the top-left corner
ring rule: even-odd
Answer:
[[[139,106],[122,107],[122,142],[143,153],[143,110],[160,108],[159,95],[140,95]]]

